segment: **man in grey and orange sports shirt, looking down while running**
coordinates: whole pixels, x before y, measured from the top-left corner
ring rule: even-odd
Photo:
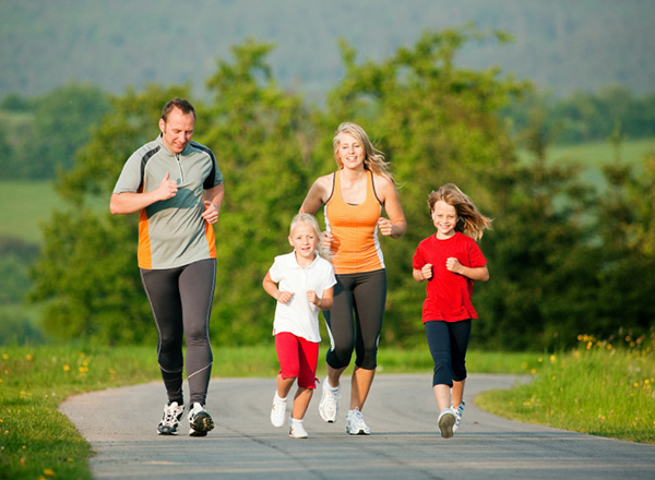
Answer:
[[[162,110],[157,139],[134,152],[116,183],[112,214],[139,212],[139,267],[158,333],[157,360],[168,395],[157,427],[178,433],[184,412],[182,338],[187,345],[189,434],[214,428],[205,410],[212,371],[210,313],[216,279],[216,241],[225,194],[210,148],[192,142],[193,106],[181,98]]]

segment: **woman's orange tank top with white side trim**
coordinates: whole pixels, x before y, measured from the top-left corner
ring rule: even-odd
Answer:
[[[376,194],[373,173],[369,173],[364,203],[352,205],[344,202],[338,171],[334,173],[332,194],[325,202],[325,225],[334,236],[332,264],[340,275],[384,268],[378,241],[378,219],[382,207]]]

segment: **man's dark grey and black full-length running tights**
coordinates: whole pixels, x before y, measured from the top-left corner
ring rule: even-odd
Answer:
[[[216,283],[216,261],[201,260],[178,268],[143,269],[159,341],[157,360],[169,401],[183,403],[182,336],[187,343],[187,379],[191,405],[205,405],[212,373],[210,314]]]

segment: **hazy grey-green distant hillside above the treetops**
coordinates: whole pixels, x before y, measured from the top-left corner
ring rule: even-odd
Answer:
[[[217,58],[247,37],[277,45],[269,61],[283,86],[318,97],[343,74],[338,38],[380,60],[426,28],[467,22],[515,43],[469,45],[463,65],[500,65],[556,95],[655,91],[652,0],[0,0],[0,97],[69,81],[202,93]]]

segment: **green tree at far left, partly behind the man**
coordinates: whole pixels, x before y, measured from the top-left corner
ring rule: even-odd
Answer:
[[[150,86],[139,95],[128,91],[114,98],[75,167],[61,173],[59,193],[70,206],[46,226],[33,268],[32,299],[46,305],[47,333],[107,345],[155,337],[136,267],[138,218],[112,217],[108,205],[124,161],[157,135],[162,106],[175,96],[188,96],[188,91]],[[107,213],[90,208],[98,200]]]

